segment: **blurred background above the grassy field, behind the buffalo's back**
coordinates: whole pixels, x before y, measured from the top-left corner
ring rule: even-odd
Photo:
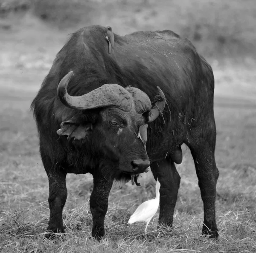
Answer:
[[[221,93],[240,96],[245,92],[240,82],[248,88],[255,77],[250,71],[256,66],[254,0],[0,0],[0,71],[5,78],[0,87],[20,89],[18,79],[23,91],[37,91],[67,35],[92,24],[112,26],[120,35],[175,31],[206,57],[217,80],[225,80]],[[223,65],[224,73],[219,71]],[[230,78],[235,79],[232,89]]]

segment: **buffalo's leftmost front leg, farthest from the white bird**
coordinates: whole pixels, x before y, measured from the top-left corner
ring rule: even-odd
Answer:
[[[53,166],[49,156],[41,150],[41,157],[49,181],[50,218],[47,230],[53,233],[65,233],[62,222],[62,210],[67,199],[66,175],[63,169]]]

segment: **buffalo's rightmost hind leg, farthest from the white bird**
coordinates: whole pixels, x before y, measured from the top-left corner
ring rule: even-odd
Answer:
[[[210,238],[218,237],[218,229],[215,220],[216,184],[219,171],[215,163],[215,140],[216,131],[209,127],[206,132],[194,132],[187,145],[194,159],[195,169],[198,176],[198,185],[204,203],[204,225],[202,234]]]

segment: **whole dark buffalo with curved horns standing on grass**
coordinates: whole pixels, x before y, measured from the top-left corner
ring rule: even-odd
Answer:
[[[93,175],[92,236],[100,238],[113,180],[130,180],[149,165],[161,184],[159,223],[172,226],[175,163],[185,143],[204,202],[202,233],[218,237],[212,68],[172,31],[115,34],[111,54],[106,32],[89,26],[72,34],[32,102],[49,179],[47,230],[64,232],[67,173]],[[145,150],[138,129],[147,123]]]

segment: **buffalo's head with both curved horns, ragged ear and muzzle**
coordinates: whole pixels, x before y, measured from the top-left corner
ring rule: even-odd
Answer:
[[[81,124],[71,118],[61,123],[61,129],[57,133],[69,138],[84,139],[90,143],[89,149],[93,156],[109,161],[119,168],[119,173],[144,172],[150,162],[145,150],[145,140],[143,143],[143,139],[139,138],[139,128],[152,122],[163,112],[163,92],[157,87],[157,102],[153,108],[148,95],[143,91],[134,87],[123,88],[118,84],[105,84],[87,94],[73,97],[67,93],[72,75],[73,71],[70,71],[58,85],[60,101],[84,114],[86,110],[100,108],[99,115],[93,124]]]

